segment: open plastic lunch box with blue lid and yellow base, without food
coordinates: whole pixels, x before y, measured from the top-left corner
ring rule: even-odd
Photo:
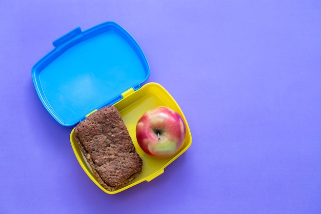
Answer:
[[[45,108],[63,126],[75,126],[90,113],[114,105],[121,113],[137,153],[143,159],[142,173],[125,187],[108,191],[95,179],[70,133],[75,156],[88,177],[103,191],[114,194],[143,181],[151,181],[183,154],[192,137],[186,118],[166,89],[157,83],[142,85],[149,77],[146,57],[134,38],[114,22],[82,31],[75,28],[53,43],[54,49],[32,68],[32,80]],[[178,112],[186,124],[186,138],[180,150],[169,158],[146,154],[136,140],[136,124],[148,110],[166,106]]]

